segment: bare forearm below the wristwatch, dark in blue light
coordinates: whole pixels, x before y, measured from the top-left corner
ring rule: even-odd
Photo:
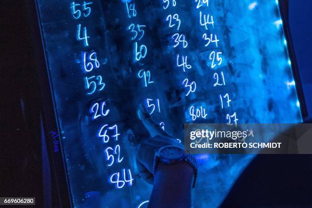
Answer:
[[[154,175],[149,207],[191,207],[194,170],[189,164],[159,163]]]

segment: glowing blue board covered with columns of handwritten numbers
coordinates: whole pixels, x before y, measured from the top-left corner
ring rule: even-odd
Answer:
[[[37,6],[75,207],[146,205],[151,186],[135,163],[136,141],[148,136],[136,115],[141,103],[178,139],[184,123],[301,122],[275,0]],[[194,207],[217,206],[250,161],[220,163],[228,157],[198,158],[195,192],[213,191],[195,193]],[[221,185],[208,185],[207,173]]]

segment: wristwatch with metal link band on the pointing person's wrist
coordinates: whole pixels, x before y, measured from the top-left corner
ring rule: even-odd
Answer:
[[[195,187],[197,173],[198,173],[198,164],[194,155],[185,153],[184,149],[178,146],[170,145],[160,148],[154,154],[153,161],[153,175],[155,175],[155,170],[159,162],[165,164],[177,164],[180,162],[186,162],[191,165],[194,169],[194,181],[193,188]]]

